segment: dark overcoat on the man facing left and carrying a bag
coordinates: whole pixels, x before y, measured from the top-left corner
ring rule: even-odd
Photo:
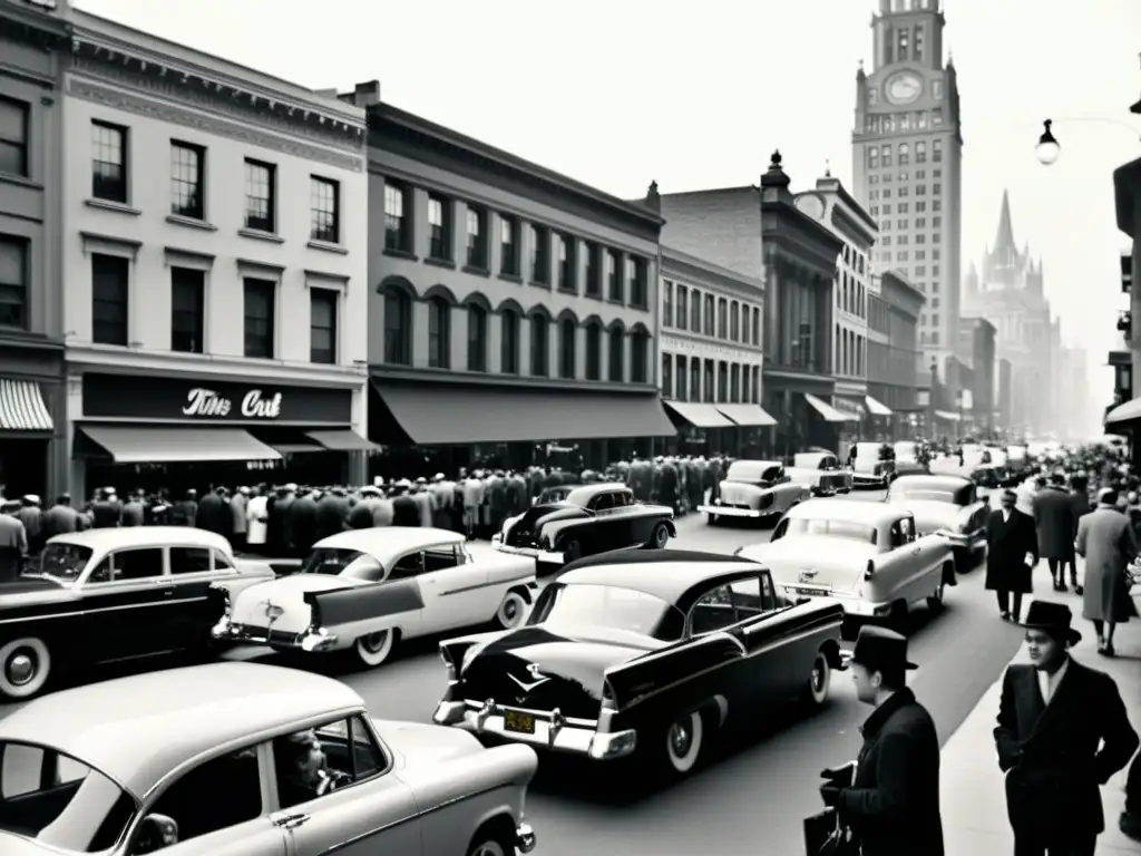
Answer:
[[[863,856],[944,856],[939,813],[939,735],[911,689],[875,709],[860,729],[864,746],[840,819]]]

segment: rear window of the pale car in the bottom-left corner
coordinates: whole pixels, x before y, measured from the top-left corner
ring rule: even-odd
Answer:
[[[0,741],[0,831],[50,848],[99,853],[114,847],[135,811],[129,793],[82,761]]]

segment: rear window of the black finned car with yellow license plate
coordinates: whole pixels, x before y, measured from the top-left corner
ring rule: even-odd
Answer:
[[[621,586],[552,583],[543,592],[532,624],[594,624],[673,641],[681,638],[686,616],[655,595]]]

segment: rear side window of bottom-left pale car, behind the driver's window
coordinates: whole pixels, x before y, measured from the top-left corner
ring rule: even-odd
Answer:
[[[257,748],[242,749],[200,764],[155,800],[147,815],[173,821],[175,841],[188,841],[261,816],[261,775]],[[130,853],[149,853],[138,838]]]

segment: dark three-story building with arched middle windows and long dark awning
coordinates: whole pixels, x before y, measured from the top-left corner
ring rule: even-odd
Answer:
[[[342,98],[369,121],[380,471],[547,450],[600,466],[675,434],[656,378],[662,218],[381,103],[374,83]]]

